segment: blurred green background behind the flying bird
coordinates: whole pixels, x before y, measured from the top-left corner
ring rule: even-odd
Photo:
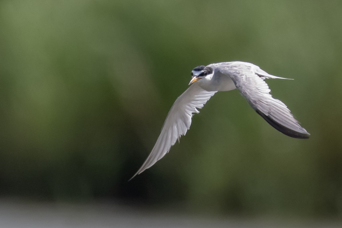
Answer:
[[[342,216],[341,1],[0,2],[0,195]],[[237,90],[128,182],[198,65],[251,62],[311,138]]]

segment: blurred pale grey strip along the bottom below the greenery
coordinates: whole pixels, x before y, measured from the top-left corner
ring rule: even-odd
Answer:
[[[0,199],[1,228],[54,227],[341,227],[331,221],[188,216],[167,211],[148,211],[115,203],[37,203]]]

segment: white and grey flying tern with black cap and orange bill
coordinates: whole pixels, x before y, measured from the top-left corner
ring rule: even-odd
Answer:
[[[270,75],[260,67],[246,62],[198,66],[192,70],[191,76],[189,88],[173,103],[156,144],[133,177],[154,165],[169,152],[171,146],[190,129],[193,113],[199,113],[198,108],[202,108],[218,91],[238,89],[250,106],[281,133],[293,138],[310,136],[287,106],[272,97],[265,82],[265,79],[287,78]]]

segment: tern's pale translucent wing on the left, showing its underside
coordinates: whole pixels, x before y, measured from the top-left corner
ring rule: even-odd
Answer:
[[[151,167],[169,152],[177,139],[179,140],[190,129],[193,113],[199,113],[197,108],[202,108],[215,93],[216,91],[203,90],[197,83],[194,83],[176,99],[161,128],[156,144],[133,177]]]

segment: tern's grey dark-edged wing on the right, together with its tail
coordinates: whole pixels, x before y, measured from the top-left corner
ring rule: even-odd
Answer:
[[[269,75],[255,65],[223,65],[219,71],[229,76],[252,108],[275,129],[293,138],[308,138],[310,134],[300,126],[287,106],[272,97],[265,78]],[[284,78],[283,78],[284,79]]]

